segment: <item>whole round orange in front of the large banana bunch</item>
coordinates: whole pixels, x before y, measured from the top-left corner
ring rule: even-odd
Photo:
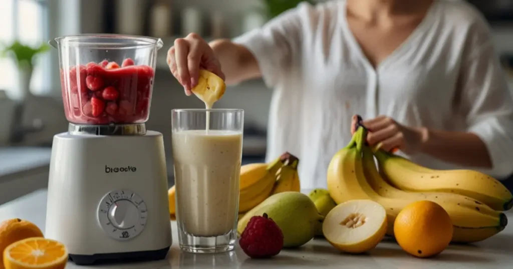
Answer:
[[[416,257],[435,256],[449,245],[452,221],[439,204],[417,201],[406,206],[393,224],[401,248]]]

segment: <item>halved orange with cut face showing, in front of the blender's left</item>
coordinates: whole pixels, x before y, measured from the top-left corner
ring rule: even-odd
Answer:
[[[68,250],[58,241],[31,237],[14,242],[4,251],[6,269],[61,269],[68,262]]]

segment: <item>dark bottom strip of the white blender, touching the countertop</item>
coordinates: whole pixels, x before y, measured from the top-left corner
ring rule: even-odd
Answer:
[[[154,251],[136,251],[125,253],[103,253],[93,255],[69,254],[69,260],[76,265],[105,264],[117,262],[156,261],[166,258],[169,248]]]

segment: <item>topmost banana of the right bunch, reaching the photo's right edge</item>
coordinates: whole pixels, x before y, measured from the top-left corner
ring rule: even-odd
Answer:
[[[432,170],[406,158],[378,150],[383,174],[396,188],[410,192],[455,193],[478,200],[494,210],[513,206],[513,195],[497,179],[473,170]]]

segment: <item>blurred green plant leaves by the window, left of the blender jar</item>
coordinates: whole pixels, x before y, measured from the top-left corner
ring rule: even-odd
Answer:
[[[33,69],[34,56],[44,53],[49,48],[50,47],[46,44],[41,44],[38,47],[30,47],[28,45],[21,44],[16,40],[10,46],[5,46],[0,52],[0,56],[11,56],[16,62],[18,68],[21,68],[22,65],[28,65],[30,69]]]

